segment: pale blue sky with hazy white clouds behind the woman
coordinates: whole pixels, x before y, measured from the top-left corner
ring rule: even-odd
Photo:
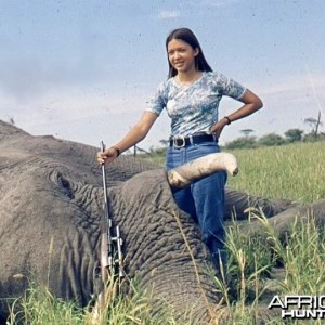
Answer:
[[[264,104],[226,127],[221,144],[245,129],[310,132],[304,119],[325,120],[324,17],[324,0],[0,0],[0,119],[112,145],[166,80],[167,35],[188,27],[213,70]],[[219,115],[239,106],[223,98]],[[139,146],[160,146],[169,132],[162,113]]]

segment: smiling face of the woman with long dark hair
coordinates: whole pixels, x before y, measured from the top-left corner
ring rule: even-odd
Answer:
[[[167,46],[170,64],[178,73],[186,73],[195,69],[195,56],[198,49],[193,49],[188,43],[172,39]]]

